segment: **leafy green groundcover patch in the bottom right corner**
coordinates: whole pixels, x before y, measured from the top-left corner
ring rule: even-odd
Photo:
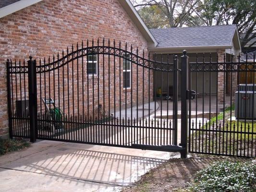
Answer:
[[[216,162],[197,172],[192,192],[256,192],[256,163]]]

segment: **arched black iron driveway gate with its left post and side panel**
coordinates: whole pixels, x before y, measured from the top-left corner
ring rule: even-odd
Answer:
[[[11,136],[186,155],[177,144],[177,57],[87,41],[7,69]]]

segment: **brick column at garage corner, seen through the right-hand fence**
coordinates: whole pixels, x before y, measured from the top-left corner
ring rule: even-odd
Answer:
[[[218,61],[220,63],[224,62],[224,54],[225,54],[225,50],[224,49],[219,49],[217,50],[217,54],[218,54]],[[224,94],[225,94],[225,82],[224,82],[224,72],[218,72],[218,103],[219,104],[223,104],[224,102]]]

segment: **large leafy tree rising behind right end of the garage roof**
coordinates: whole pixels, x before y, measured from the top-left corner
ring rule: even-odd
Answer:
[[[200,0],[198,3],[193,11],[205,25],[237,25],[242,48],[256,37],[256,0]]]

